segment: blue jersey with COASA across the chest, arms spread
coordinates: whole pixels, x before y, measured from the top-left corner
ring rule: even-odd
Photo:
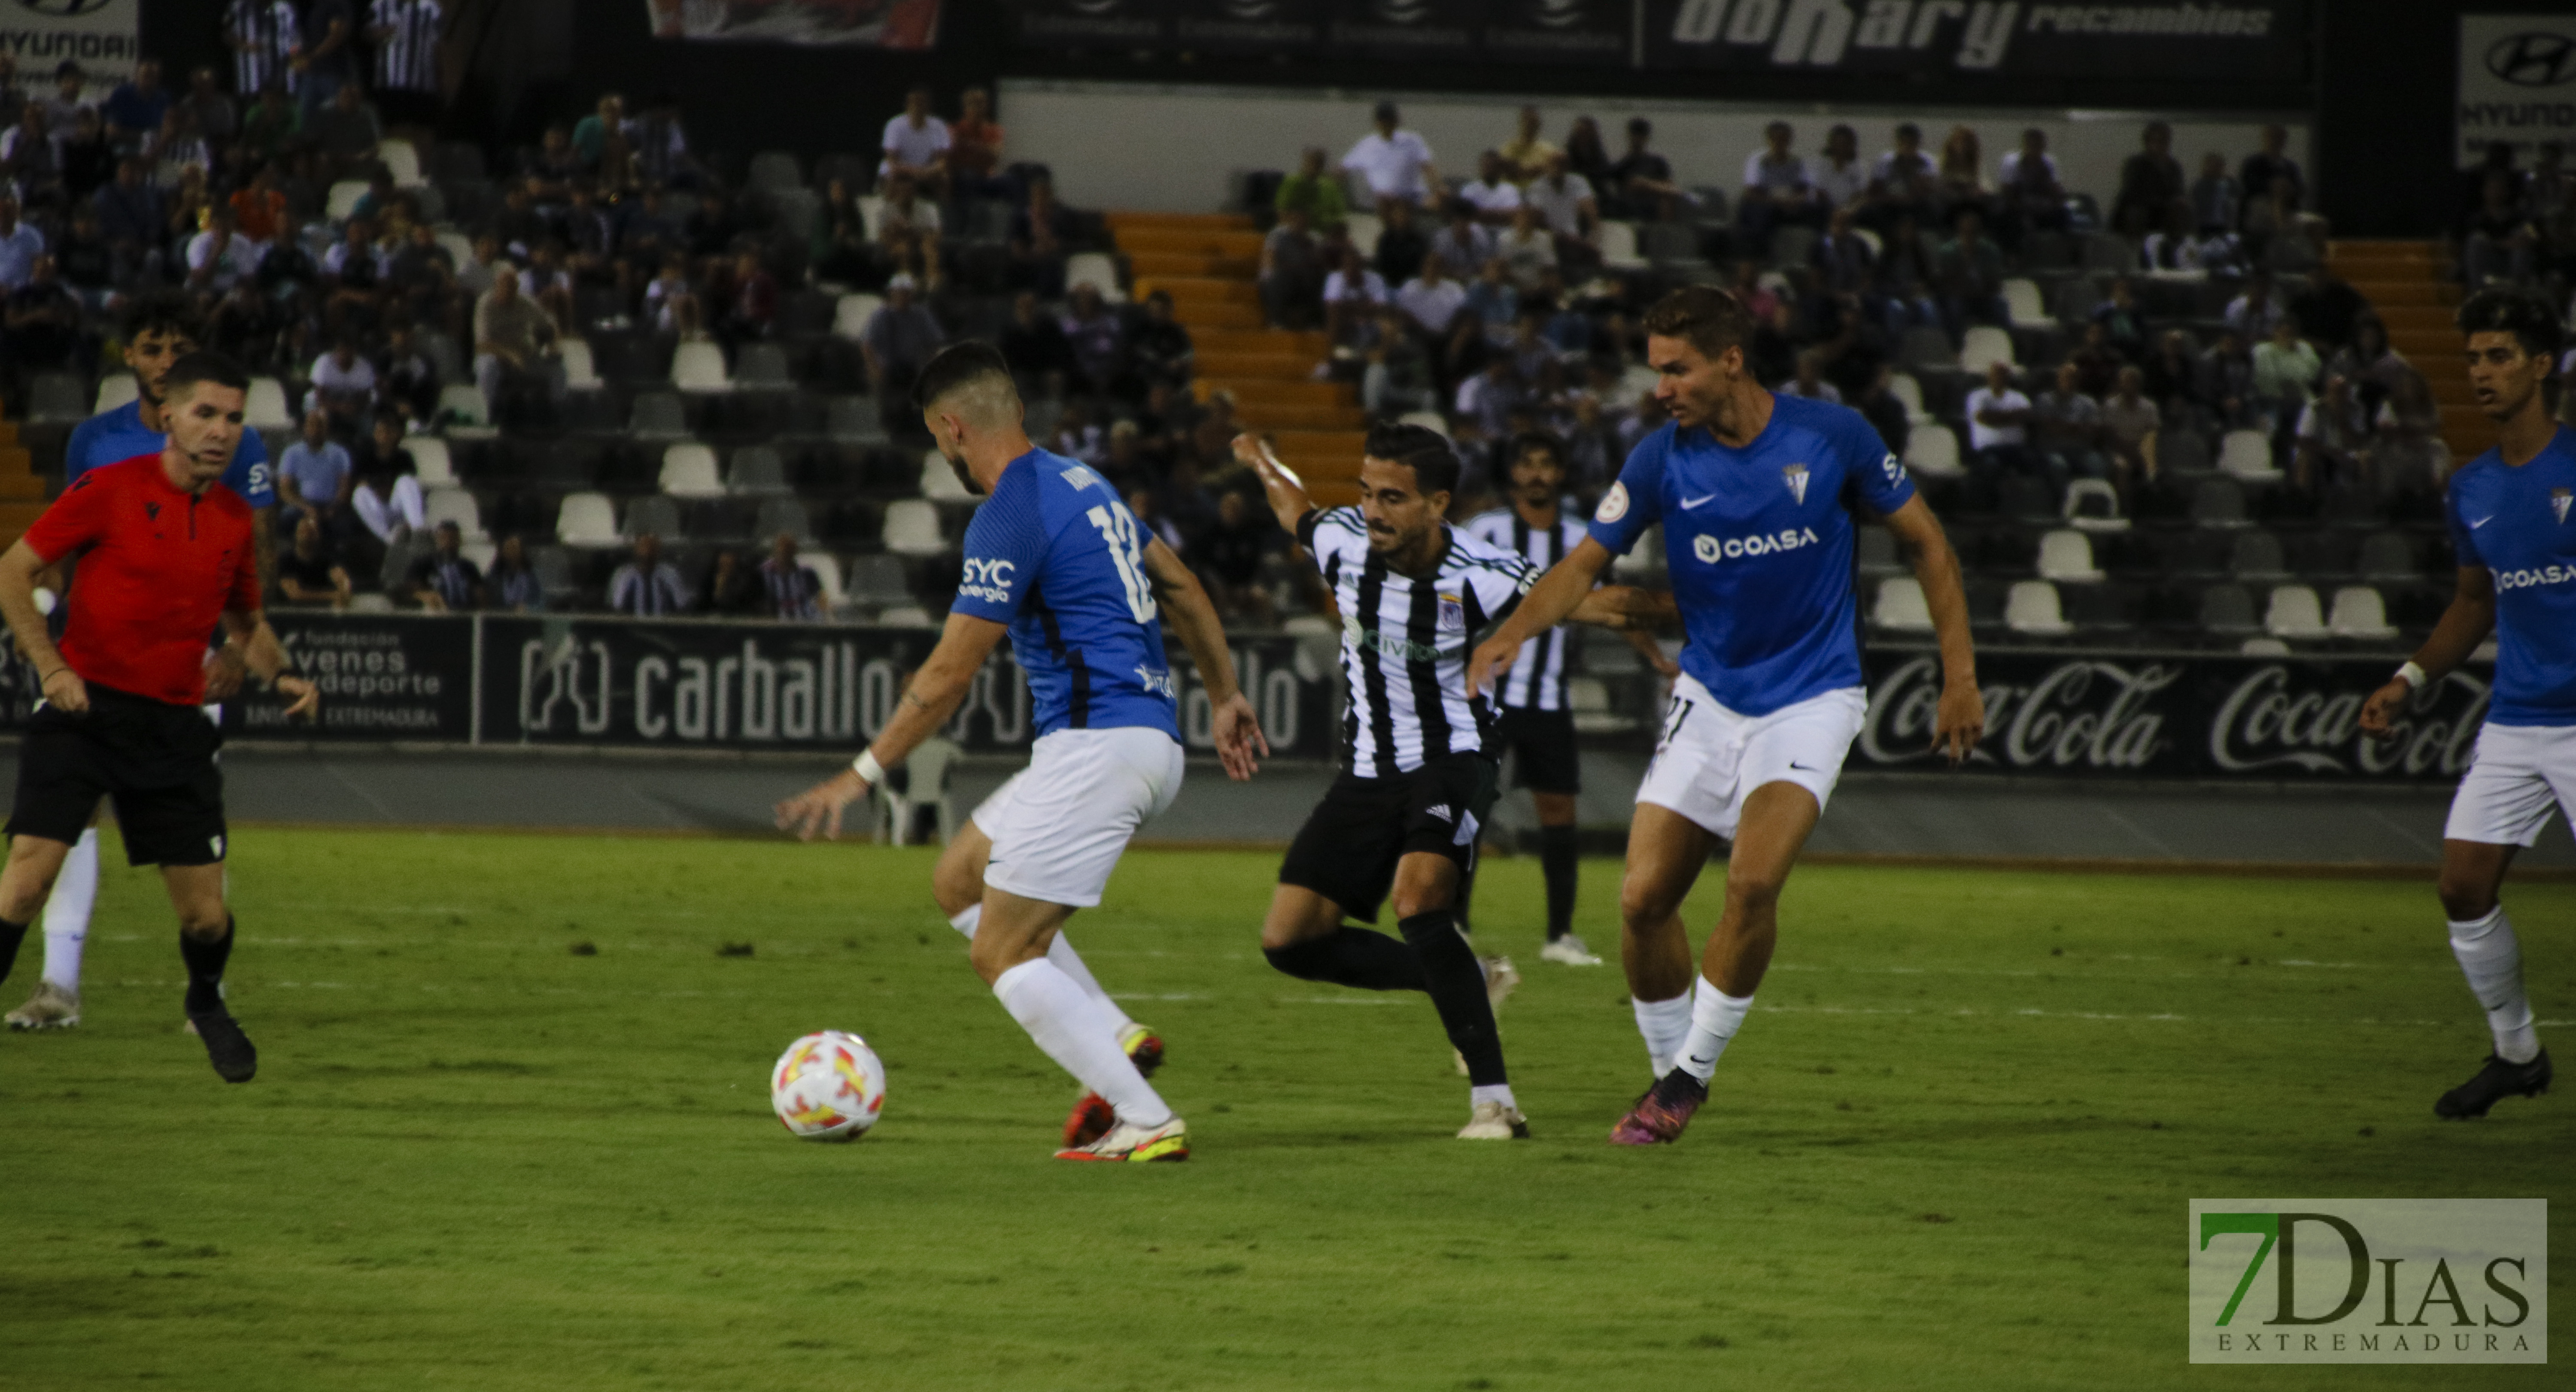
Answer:
[[[1886,516],[1914,479],[1857,412],[1772,397],[1744,449],[1674,425],[1638,441],[1592,513],[1625,554],[1664,523],[1682,670],[1736,714],[1770,714],[1860,686],[1852,626],[1852,508]]]

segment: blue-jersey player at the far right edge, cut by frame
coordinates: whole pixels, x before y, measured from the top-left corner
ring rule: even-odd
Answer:
[[[2416,691],[2496,634],[2496,683],[2442,827],[2439,879],[2450,951],[2486,1008],[2496,1049],[2476,1078],[2432,1103],[2437,1116],[2486,1116],[2501,1098],[2550,1085],[2550,1052],[2522,990],[2522,943],[2496,892],[2514,851],[2550,825],[2553,804],[2576,817],[2576,430],[2555,420],[2566,333],[2540,296],[2478,291],[2460,307],[2460,333],[2496,449],[2450,477],[2458,588],[2424,647],[2370,693],[2362,730],[2396,737]]]

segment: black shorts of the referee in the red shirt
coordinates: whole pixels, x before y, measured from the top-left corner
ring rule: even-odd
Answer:
[[[131,866],[211,866],[224,858],[222,730],[198,706],[90,686],[90,709],[39,706],[18,740],[10,835],[72,843],[116,799]]]

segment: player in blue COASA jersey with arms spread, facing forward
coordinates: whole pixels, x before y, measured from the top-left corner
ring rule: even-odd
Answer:
[[[1620,884],[1620,956],[1656,1083],[1613,1129],[1620,1145],[1680,1137],[1708,1098],[1770,967],[1780,887],[1860,735],[1855,513],[1886,521],[1932,608],[1942,655],[1935,748],[1965,758],[1986,727],[1968,598],[1940,521],[1860,412],[1775,397],[1752,379],[1752,330],[1744,304],[1710,286],[1677,289],[1646,312],[1654,394],[1672,423],[1638,441],[1592,534],[1468,665],[1471,688],[1494,681],[1662,523],[1682,675],[1636,791]],[[1734,840],[1726,910],[1692,990],[1680,907],[1718,840]]]

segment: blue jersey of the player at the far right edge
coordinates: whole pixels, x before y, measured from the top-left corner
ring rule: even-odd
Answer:
[[[2527,464],[2486,451],[2450,477],[2460,565],[2496,577],[2494,724],[2576,724],[2576,430]]]

